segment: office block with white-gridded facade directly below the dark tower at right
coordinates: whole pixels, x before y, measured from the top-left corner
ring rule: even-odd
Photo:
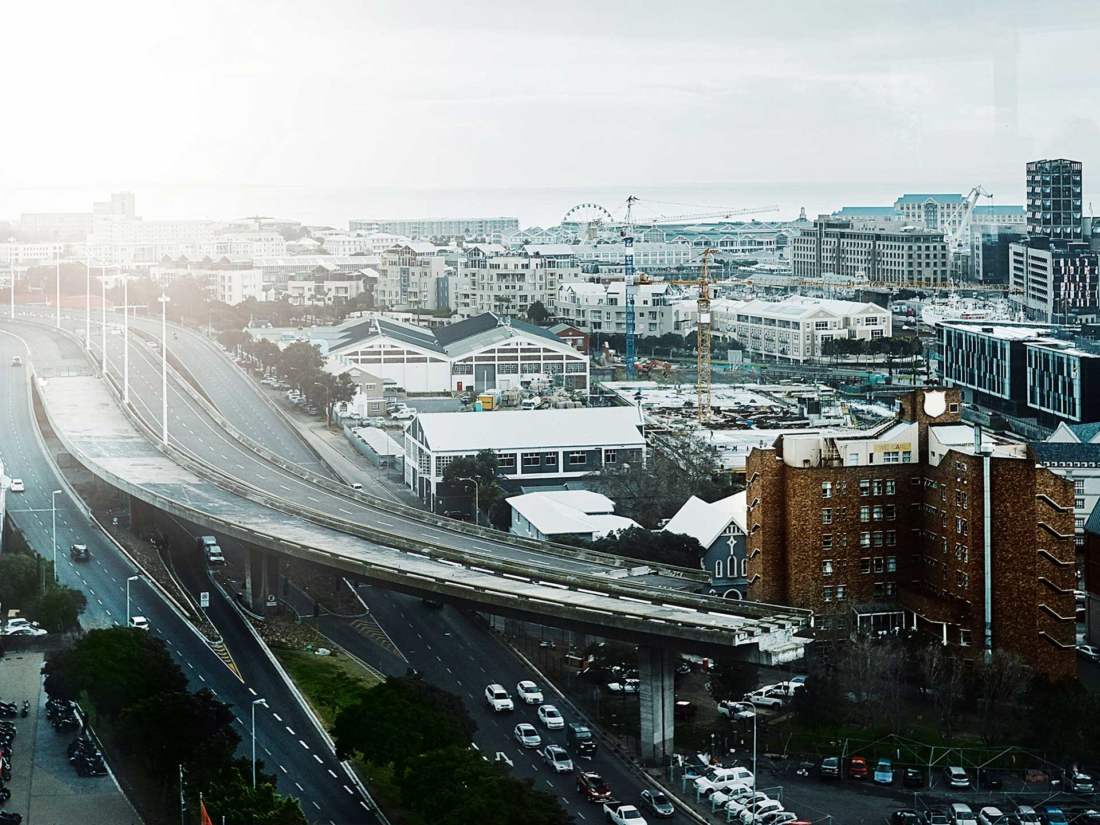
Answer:
[[[1045,234],[1009,244],[1009,300],[1043,323],[1094,320],[1100,315],[1097,253],[1084,241],[1050,241]]]

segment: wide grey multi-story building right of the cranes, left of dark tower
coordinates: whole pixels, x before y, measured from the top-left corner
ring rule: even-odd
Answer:
[[[791,265],[801,278],[832,274],[897,285],[942,284],[948,275],[943,232],[858,229],[824,215],[792,240]]]

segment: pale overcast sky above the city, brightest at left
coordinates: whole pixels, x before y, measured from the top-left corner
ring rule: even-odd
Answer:
[[[1100,193],[1098,6],[12,0],[0,189],[965,191],[1068,156]]]

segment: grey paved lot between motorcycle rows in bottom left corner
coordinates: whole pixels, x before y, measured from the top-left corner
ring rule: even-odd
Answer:
[[[16,730],[8,783],[11,800],[3,810],[21,814],[24,825],[76,825],[89,822],[91,811],[96,822],[139,825],[112,776],[81,778],[69,765],[66,747],[75,734],[58,733],[46,721],[43,661],[36,651],[9,651],[0,659],[0,700],[19,705],[30,701],[28,715],[11,721]]]

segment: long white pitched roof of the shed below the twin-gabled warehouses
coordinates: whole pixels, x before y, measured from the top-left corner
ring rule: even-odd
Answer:
[[[424,413],[417,425],[432,452],[645,447],[632,407]]]

